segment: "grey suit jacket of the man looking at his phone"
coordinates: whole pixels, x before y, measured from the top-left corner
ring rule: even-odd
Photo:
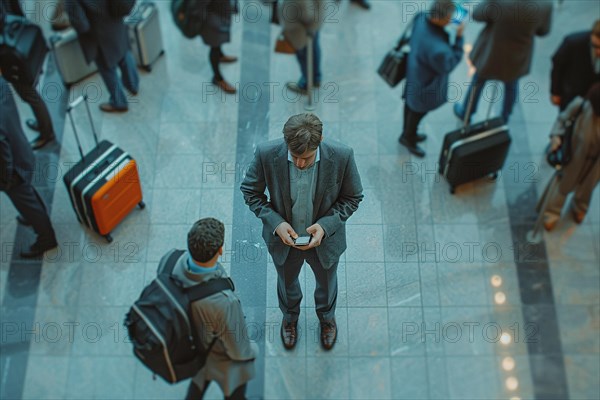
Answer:
[[[363,199],[354,151],[340,143],[321,142],[313,223],[325,231],[317,255],[324,268],[346,250],[346,220]],[[269,191],[269,198],[265,194]],[[273,232],[283,221],[292,221],[288,148],[283,139],[259,145],[241,185],[250,210],[263,222],[263,238],[273,261],[283,264],[290,247]]]

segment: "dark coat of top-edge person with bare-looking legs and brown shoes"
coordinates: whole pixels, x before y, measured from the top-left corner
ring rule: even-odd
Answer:
[[[221,46],[231,40],[231,16],[237,10],[237,0],[202,0],[204,23],[200,36],[210,47]]]

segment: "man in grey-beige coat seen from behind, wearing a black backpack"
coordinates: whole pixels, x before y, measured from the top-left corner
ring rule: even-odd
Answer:
[[[187,251],[177,259],[172,277],[184,288],[227,278],[218,261],[224,240],[221,221],[203,218],[194,223],[188,232]],[[159,273],[174,251],[162,258]],[[255,375],[258,346],[248,337],[240,299],[232,290],[222,290],[192,302],[190,315],[198,339],[210,350],[206,364],[190,382],[186,400],[202,399],[212,381],[217,382],[226,400],[245,399],[246,384]]]

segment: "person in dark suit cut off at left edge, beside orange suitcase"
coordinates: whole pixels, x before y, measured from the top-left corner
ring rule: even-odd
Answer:
[[[0,76],[0,191],[5,192],[37,240],[21,251],[23,258],[40,257],[55,248],[56,237],[44,201],[32,185],[35,156],[21,128],[21,120],[8,83]]]

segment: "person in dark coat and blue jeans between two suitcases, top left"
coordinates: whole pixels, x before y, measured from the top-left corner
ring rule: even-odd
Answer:
[[[122,17],[110,15],[108,1],[66,0],[65,7],[86,61],[96,62],[110,93],[110,101],[100,104],[100,109],[104,112],[125,112],[128,105],[123,86],[132,95],[137,95],[139,76],[129,50],[127,27]],[[121,78],[117,67],[121,70]]]

